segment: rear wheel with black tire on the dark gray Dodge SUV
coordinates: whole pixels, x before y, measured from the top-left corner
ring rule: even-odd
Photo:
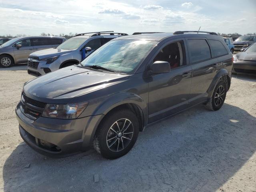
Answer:
[[[227,93],[227,85],[221,80],[215,86],[214,91],[212,92],[212,96],[210,100],[205,104],[205,107],[208,110],[216,111],[219,110],[224,104]]]

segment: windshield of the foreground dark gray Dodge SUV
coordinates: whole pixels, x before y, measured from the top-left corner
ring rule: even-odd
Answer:
[[[156,41],[147,40],[112,40],[90,54],[82,65],[132,74],[156,44]]]

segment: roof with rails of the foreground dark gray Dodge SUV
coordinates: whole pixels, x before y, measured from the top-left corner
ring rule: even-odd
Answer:
[[[151,34],[140,34],[140,35],[129,35],[129,36],[122,36],[119,38],[116,38],[114,40],[149,40],[149,41],[161,41],[168,37],[205,37],[205,38],[213,38],[213,39],[219,39],[222,38],[218,35],[211,35],[211,34],[199,34],[197,33],[188,33],[188,34],[173,34],[173,33],[151,33]]]

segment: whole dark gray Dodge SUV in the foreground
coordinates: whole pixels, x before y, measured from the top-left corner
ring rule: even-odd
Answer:
[[[222,37],[205,33],[122,36],[78,65],[27,82],[16,107],[20,135],[44,155],[94,146],[114,159],[148,124],[196,104],[219,110],[233,56]]]

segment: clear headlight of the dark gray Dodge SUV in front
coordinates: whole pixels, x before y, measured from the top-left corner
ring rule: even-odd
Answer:
[[[59,119],[76,119],[84,111],[89,102],[73,104],[47,104],[42,116]]]

